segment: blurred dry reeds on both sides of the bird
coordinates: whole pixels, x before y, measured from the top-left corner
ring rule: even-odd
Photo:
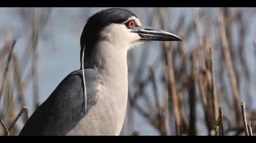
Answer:
[[[247,33],[256,9],[188,9],[193,18],[180,13],[176,21],[173,8],[146,9],[147,25],[157,25],[184,40],[151,42],[139,54],[129,52],[129,102],[121,135],[141,135],[134,129],[135,111],[158,135],[254,135],[255,69],[247,55],[256,52],[256,40]],[[15,52],[19,39],[13,38],[11,30],[1,33],[0,25],[4,38],[0,42],[0,135],[18,135],[28,110],[42,102],[38,42],[50,15],[49,9],[21,8],[21,17],[31,21],[24,55]],[[158,49],[154,57],[153,48]],[[29,84],[34,107],[26,107]]]

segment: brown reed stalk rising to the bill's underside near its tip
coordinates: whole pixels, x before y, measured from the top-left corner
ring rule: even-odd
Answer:
[[[169,48],[169,42],[163,42],[163,46],[166,50],[166,59],[168,65],[168,75],[169,81],[171,83],[171,96],[172,96],[172,105],[174,110],[174,117],[176,122],[176,135],[180,135],[180,115],[179,115],[179,105],[178,105],[178,98],[177,98],[177,91],[176,91],[176,82],[174,76],[174,69],[172,64],[172,55],[171,49]]]

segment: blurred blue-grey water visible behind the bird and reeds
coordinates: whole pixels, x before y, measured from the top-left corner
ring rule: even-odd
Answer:
[[[52,91],[54,91],[55,87],[65,76],[80,68],[80,34],[87,18],[102,9],[104,8],[52,8],[48,24],[40,31],[39,37],[38,47],[41,53],[40,102],[45,101],[51,95]],[[148,24],[146,15],[148,15],[147,12],[151,12],[152,8],[129,8],[129,10],[132,10],[140,18],[142,24]],[[212,8],[212,11],[214,10],[216,8]],[[174,22],[179,19],[178,16],[180,14],[186,15],[185,22],[193,19],[191,8],[172,8],[172,12],[175,13],[175,15],[172,15]],[[18,56],[21,56],[26,48],[27,39],[30,36],[31,28],[29,26],[31,21],[24,21],[19,13],[20,8],[0,8],[0,32],[4,33],[4,30],[10,29],[13,37],[18,37],[15,52],[18,53]],[[170,25],[171,28],[174,28],[174,25]],[[255,25],[255,22],[252,22],[252,25]],[[252,28],[251,35],[253,36],[249,36],[251,39],[248,39],[248,41],[253,41],[253,38],[255,38],[254,32],[255,28]],[[4,35],[0,35],[0,44],[3,42],[2,39],[4,39]],[[189,42],[191,45],[196,44],[196,41]],[[159,42],[155,42],[155,44],[159,44]],[[135,53],[140,53],[141,49],[135,48]],[[150,53],[150,56],[153,58],[149,59],[155,59],[155,52],[152,51],[154,51],[153,48]],[[250,67],[252,70],[255,69],[255,63],[250,65]],[[32,93],[32,85],[30,84],[26,90],[26,101],[29,107],[33,107]],[[162,91],[160,91],[161,93]],[[255,91],[252,91],[252,93],[255,93]],[[32,108],[30,115],[33,111],[34,109]],[[135,112],[133,130],[140,131],[140,135],[158,135],[154,127],[149,125],[137,112]]]

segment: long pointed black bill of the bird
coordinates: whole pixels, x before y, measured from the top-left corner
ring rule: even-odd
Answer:
[[[144,41],[182,41],[181,38],[172,33],[148,26],[134,27],[132,32],[138,33],[141,37],[140,40]]]

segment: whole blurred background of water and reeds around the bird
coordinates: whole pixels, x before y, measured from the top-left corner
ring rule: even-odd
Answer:
[[[80,35],[102,9],[0,8],[0,135],[7,135],[3,124],[18,135],[62,79],[80,68]],[[128,53],[121,135],[252,135],[256,8],[127,10],[184,41],[148,42]]]

